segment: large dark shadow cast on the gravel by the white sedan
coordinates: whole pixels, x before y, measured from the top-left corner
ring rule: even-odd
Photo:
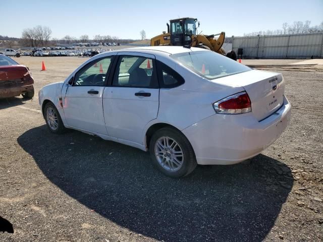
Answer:
[[[53,135],[43,125],[18,143],[69,196],[158,240],[261,241],[293,186],[291,170],[261,154],[250,165],[198,166],[173,179],[141,150],[76,131]]]

